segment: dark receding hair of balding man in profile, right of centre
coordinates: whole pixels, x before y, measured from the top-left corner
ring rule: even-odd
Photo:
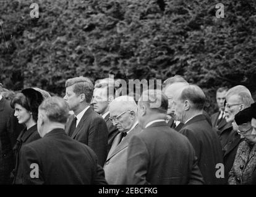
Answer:
[[[181,92],[180,99],[182,101],[189,100],[192,104],[192,109],[194,110],[201,111],[203,110],[203,107],[205,107],[205,94],[203,93],[203,90],[200,89],[200,87],[194,84],[184,87]]]

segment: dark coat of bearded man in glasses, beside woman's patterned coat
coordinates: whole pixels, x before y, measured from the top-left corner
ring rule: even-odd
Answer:
[[[233,167],[234,159],[236,158],[237,148],[243,142],[241,135],[237,131],[232,130],[223,147],[223,164],[224,164],[224,181],[228,182],[229,171]]]

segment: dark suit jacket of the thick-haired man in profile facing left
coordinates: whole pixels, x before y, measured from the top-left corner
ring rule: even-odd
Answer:
[[[67,120],[66,133],[70,133],[70,126],[74,115]],[[70,136],[88,147],[92,148],[98,156],[98,163],[103,166],[108,152],[108,127],[102,116],[98,115],[91,107],[85,111],[82,119]]]

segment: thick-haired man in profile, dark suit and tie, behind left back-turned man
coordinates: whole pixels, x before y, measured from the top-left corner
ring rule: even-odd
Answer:
[[[74,115],[69,117],[65,130],[72,139],[92,148],[103,166],[108,151],[108,128],[104,119],[90,107],[92,96],[93,84],[90,79],[80,76],[66,81],[64,100]]]

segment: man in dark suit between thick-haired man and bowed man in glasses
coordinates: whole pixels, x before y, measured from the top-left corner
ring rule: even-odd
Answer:
[[[109,119],[109,103],[114,100],[114,84],[106,84],[98,82],[95,84],[95,89],[93,90],[92,105],[94,111],[100,114],[102,118],[106,121],[108,127],[108,151],[111,148],[114,137],[119,134],[116,126]]]

